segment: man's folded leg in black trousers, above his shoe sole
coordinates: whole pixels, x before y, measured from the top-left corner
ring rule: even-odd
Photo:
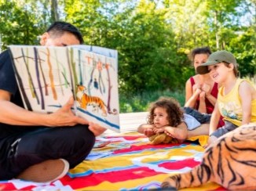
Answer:
[[[20,136],[9,149],[5,163],[5,178],[15,178],[34,164],[63,158],[70,168],[82,162],[90,153],[95,136],[86,125],[64,128],[38,128]],[[2,178],[2,177],[0,177]]]

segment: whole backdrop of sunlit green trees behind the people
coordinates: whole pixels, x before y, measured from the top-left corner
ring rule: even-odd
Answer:
[[[121,110],[145,110],[159,95],[183,91],[196,47],[234,53],[241,77],[254,77],[255,9],[254,0],[0,0],[0,43],[38,44],[59,16],[79,27],[85,44],[118,50]]]

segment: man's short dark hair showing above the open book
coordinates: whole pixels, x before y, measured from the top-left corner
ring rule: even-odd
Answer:
[[[80,44],[83,44],[81,32],[77,27],[75,27],[71,23],[66,23],[64,21],[56,21],[49,26],[46,32],[53,36],[61,36],[62,34],[64,34],[64,32],[69,32],[75,35],[75,37],[79,40]]]

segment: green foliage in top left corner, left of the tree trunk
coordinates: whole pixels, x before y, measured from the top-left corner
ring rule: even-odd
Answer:
[[[0,37],[7,45],[35,45],[49,25],[48,1],[0,1]]]

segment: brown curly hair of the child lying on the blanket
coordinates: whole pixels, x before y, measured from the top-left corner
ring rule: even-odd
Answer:
[[[177,125],[181,124],[181,121],[184,119],[183,110],[176,99],[171,97],[160,97],[149,106],[148,124],[154,123],[154,110],[156,107],[166,109],[167,120],[172,127],[177,127]]]

